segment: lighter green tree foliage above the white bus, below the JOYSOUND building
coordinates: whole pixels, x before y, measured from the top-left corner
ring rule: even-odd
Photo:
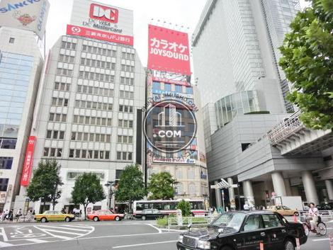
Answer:
[[[169,200],[174,198],[174,183],[176,180],[172,178],[168,172],[161,172],[159,174],[152,174],[149,179],[148,192],[151,200]]]

